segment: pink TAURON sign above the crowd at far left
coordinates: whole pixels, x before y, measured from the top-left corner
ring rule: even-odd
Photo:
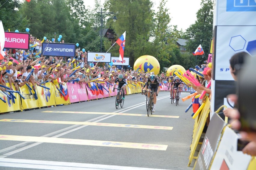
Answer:
[[[29,33],[17,33],[5,31],[4,48],[29,49]]]

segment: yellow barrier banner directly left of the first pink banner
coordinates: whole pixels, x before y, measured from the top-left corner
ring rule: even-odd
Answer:
[[[67,84],[64,83],[62,87],[60,87],[59,84],[57,84],[57,86],[58,89],[56,89],[56,86],[53,85],[55,104],[70,104]],[[61,92],[65,95],[65,97],[61,94]]]

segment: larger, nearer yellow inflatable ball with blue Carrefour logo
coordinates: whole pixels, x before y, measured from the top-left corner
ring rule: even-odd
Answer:
[[[160,71],[160,64],[157,59],[151,55],[140,56],[134,63],[133,69],[138,70],[138,72],[154,72],[157,75]]]

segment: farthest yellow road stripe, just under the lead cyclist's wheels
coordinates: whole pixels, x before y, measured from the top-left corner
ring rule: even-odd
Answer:
[[[43,111],[42,113],[78,113],[78,114],[123,115],[123,116],[147,116],[147,117],[148,117],[148,115],[146,115],[146,114],[109,113],[109,112]],[[179,118],[180,116],[150,115],[150,117]]]

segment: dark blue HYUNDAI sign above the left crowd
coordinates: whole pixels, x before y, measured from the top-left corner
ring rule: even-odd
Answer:
[[[43,42],[41,54],[44,56],[75,57],[75,44]]]

